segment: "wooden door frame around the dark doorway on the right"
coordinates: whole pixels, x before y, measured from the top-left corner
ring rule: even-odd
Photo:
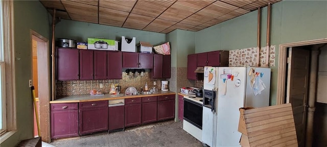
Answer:
[[[327,38],[279,44],[276,105],[284,104],[286,99],[285,82],[287,80],[287,48],[293,46],[313,45],[320,43],[327,43]]]

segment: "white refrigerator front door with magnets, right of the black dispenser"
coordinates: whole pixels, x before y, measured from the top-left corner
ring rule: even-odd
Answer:
[[[244,107],[246,67],[219,67],[214,146],[240,146],[240,111]]]

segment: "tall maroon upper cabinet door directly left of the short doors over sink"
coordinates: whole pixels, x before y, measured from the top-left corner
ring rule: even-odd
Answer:
[[[107,79],[122,79],[122,52],[107,52]]]

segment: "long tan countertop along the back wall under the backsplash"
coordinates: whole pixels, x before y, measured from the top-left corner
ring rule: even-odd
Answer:
[[[125,95],[124,93],[120,93],[119,95],[104,94],[104,95],[91,96],[90,94],[81,94],[81,95],[63,96],[55,101],[50,101],[50,104],[118,100],[118,99],[130,99],[130,98],[136,98],[136,97],[160,96],[160,95],[170,95],[170,94],[176,94],[176,93],[172,92],[172,91],[158,90],[158,93],[138,94],[138,95]]]

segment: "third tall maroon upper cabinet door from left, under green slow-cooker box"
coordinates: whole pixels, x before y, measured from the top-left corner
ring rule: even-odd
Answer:
[[[94,79],[107,79],[107,52],[94,51]]]

